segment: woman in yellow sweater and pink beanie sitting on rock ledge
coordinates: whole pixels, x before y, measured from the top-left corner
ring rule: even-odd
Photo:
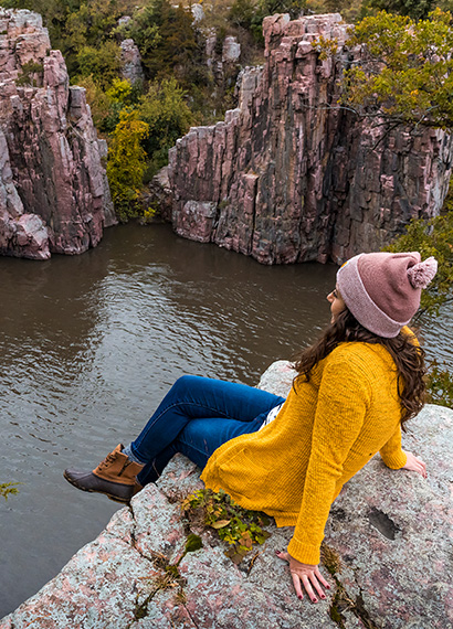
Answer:
[[[176,452],[203,469],[208,488],[295,526],[287,553],[294,588],[316,603],[329,587],[318,569],[330,505],[378,451],[392,469],[426,476],[401,448],[401,427],[423,406],[423,351],[405,327],[436,271],[419,253],[360,254],[337,273],[331,321],[305,350],[285,401],[242,384],[183,376],[138,438],[92,472],[66,470],[84,491],[128,502]]]

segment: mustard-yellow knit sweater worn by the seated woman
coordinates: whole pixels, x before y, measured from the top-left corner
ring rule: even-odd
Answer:
[[[397,369],[379,344],[341,343],[309,382],[293,386],[276,419],[223,444],[201,476],[246,509],[295,531],[288,553],[319,562],[330,505],[378,451],[392,469],[405,465]]]

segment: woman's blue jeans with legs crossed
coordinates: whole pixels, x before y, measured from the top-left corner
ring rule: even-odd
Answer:
[[[177,380],[130,449],[145,468],[140,484],[159,478],[177,452],[203,468],[222,444],[254,433],[284,397],[244,384],[185,375]]]

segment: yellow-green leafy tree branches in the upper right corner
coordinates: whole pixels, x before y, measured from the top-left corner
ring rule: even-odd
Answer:
[[[361,117],[412,128],[453,128],[453,30],[450,12],[426,20],[386,11],[361,20],[348,46],[360,46],[344,72],[341,105]]]

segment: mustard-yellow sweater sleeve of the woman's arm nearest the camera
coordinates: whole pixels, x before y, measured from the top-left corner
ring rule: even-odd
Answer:
[[[329,361],[318,392],[301,511],[288,544],[295,559],[316,565],[343,465],[362,427],[371,387],[351,356]]]

